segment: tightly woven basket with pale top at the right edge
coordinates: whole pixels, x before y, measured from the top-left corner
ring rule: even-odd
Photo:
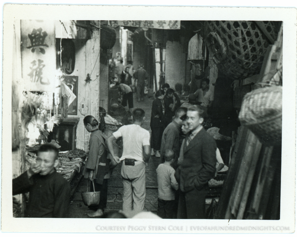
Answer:
[[[256,89],[244,96],[239,119],[265,145],[282,140],[282,87]]]

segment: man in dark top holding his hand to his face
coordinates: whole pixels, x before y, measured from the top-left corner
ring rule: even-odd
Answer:
[[[29,192],[24,217],[67,218],[70,205],[70,185],[55,170],[59,150],[43,144],[37,152],[37,163],[12,180],[12,195]]]

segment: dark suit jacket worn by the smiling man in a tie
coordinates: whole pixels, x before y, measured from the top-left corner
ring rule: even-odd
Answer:
[[[189,134],[186,136],[185,141]],[[184,159],[180,166],[181,191],[187,192],[196,188],[202,189],[208,180],[214,177],[216,171],[216,149],[214,138],[204,128],[184,145]],[[178,175],[178,173],[177,173]]]

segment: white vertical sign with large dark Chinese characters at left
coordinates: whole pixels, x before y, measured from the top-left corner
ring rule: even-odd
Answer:
[[[56,46],[53,21],[21,20],[22,77],[28,91],[55,89]]]

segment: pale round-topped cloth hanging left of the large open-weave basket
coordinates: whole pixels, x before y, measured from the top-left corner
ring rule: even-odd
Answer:
[[[194,35],[190,41],[188,46],[188,60],[203,60],[203,38],[201,35]]]

